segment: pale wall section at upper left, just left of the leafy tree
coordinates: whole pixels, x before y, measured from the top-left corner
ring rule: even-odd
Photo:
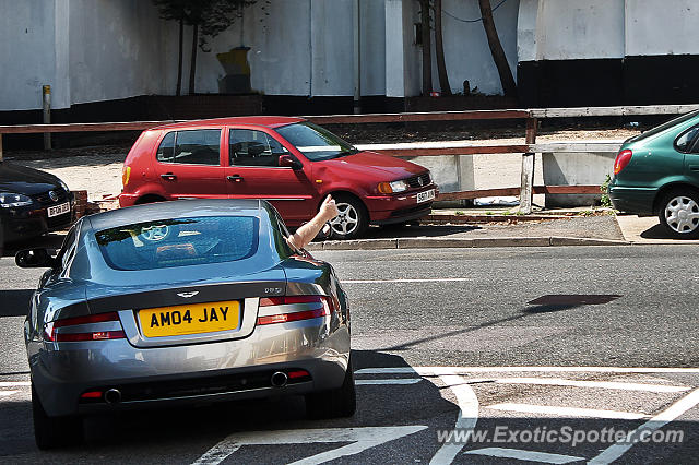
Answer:
[[[73,104],[175,92],[177,25],[159,20],[150,1],[66,2]]]

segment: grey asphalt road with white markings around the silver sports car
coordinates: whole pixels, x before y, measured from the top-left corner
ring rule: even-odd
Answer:
[[[699,456],[696,247],[315,255],[334,264],[350,295],[355,417],[309,421],[299,398],[97,417],[86,422],[86,444],[50,453],[33,443],[21,336],[40,271],[0,259],[0,462]],[[454,431],[474,436],[453,441]]]

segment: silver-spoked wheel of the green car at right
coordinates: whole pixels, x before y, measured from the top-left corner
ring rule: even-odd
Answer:
[[[699,237],[699,193],[692,190],[668,192],[660,202],[661,225],[677,239]]]

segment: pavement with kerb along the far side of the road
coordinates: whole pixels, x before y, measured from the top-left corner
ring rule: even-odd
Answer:
[[[307,249],[381,250],[486,247],[694,245],[672,239],[656,217],[615,214],[608,208],[566,208],[517,215],[511,207],[438,208],[418,224],[370,227],[355,240],[311,242]],[[59,248],[66,231],[5,245],[5,255],[36,247]]]

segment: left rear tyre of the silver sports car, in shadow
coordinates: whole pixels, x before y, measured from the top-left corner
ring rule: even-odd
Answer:
[[[34,384],[32,384],[32,416],[34,417],[34,439],[39,449],[56,449],[83,442],[82,418],[46,415]]]

